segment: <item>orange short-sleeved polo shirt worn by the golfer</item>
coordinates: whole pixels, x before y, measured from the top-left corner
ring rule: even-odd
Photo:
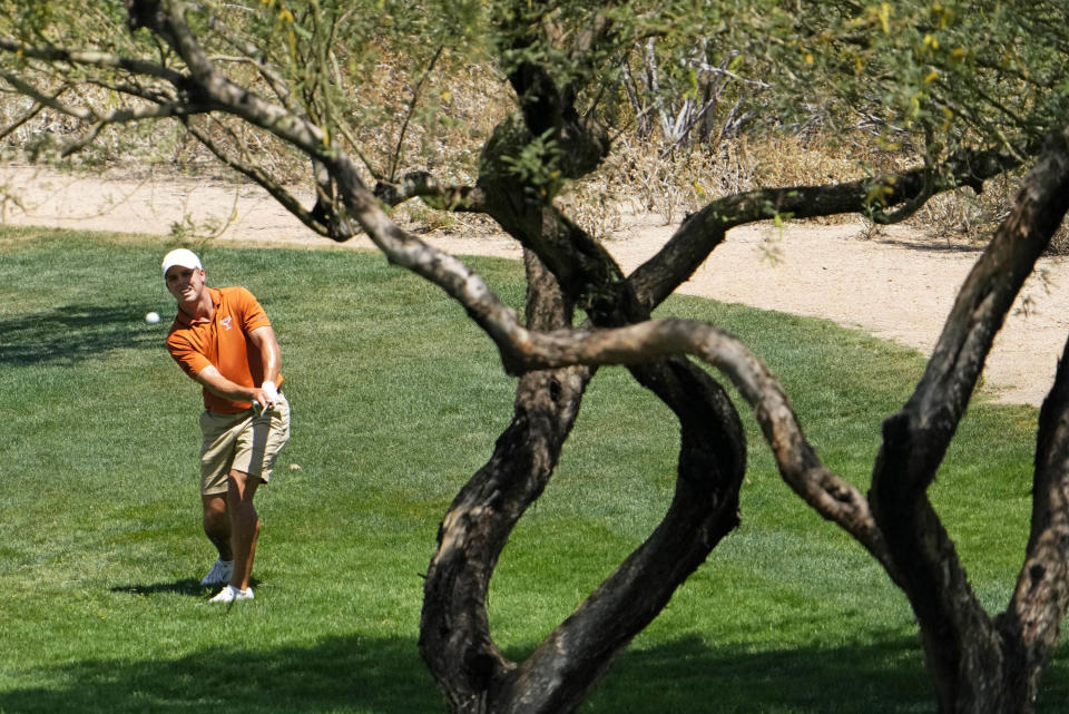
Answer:
[[[178,366],[195,378],[214,364],[219,373],[242,387],[259,387],[264,362],[248,333],[271,326],[267,313],[244,287],[206,287],[215,304],[212,320],[193,320],[178,311],[167,333],[167,351]],[[277,385],[282,387],[282,375]],[[236,414],[252,408],[249,402],[232,401],[204,390],[204,408],[220,414]]]

